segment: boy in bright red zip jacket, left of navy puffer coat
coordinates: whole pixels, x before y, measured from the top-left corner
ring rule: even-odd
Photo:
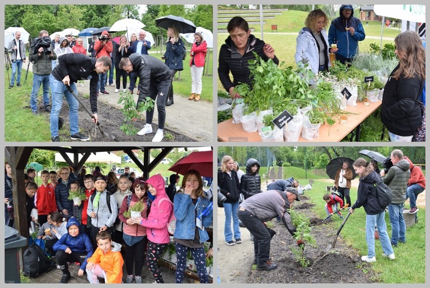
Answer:
[[[49,171],[42,170],[40,174],[42,185],[37,188],[34,203],[36,204],[38,220],[40,225],[48,221],[48,214],[57,211],[57,202],[55,201],[55,190],[49,185]]]

